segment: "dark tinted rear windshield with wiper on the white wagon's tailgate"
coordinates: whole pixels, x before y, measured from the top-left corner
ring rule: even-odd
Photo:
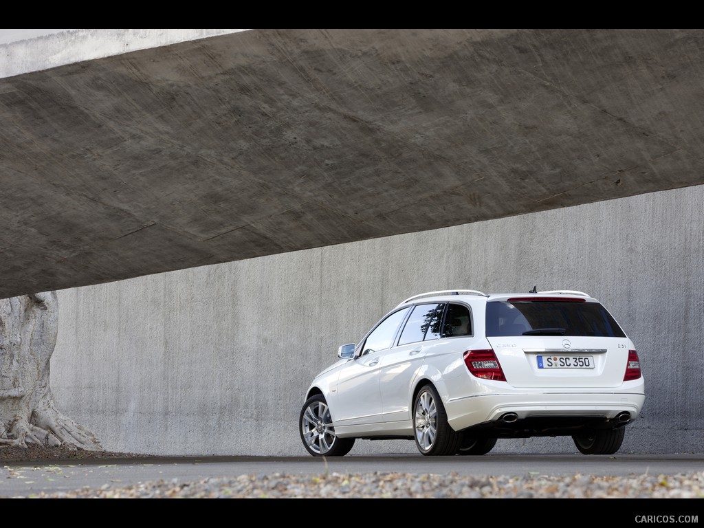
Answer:
[[[486,303],[486,335],[520,336],[557,329],[565,336],[625,337],[610,313],[599,303],[522,301]],[[561,334],[560,329],[564,329]]]

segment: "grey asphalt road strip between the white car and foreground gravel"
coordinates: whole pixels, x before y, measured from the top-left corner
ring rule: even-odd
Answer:
[[[314,457],[162,457],[108,460],[42,460],[6,463],[0,469],[0,498],[74,491],[89,487],[132,486],[140,482],[172,480],[196,482],[208,477],[242,474],[410,473],[462,475],[589,474],[674,475],[704,471],[703,454],[674,455],[513,455],[425,457],[415,454],[341,458]]]

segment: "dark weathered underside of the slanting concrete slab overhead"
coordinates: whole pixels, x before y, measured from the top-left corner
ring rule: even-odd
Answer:
[[[701,184],[703,51],[251,30],[0,79],[0,298]]]

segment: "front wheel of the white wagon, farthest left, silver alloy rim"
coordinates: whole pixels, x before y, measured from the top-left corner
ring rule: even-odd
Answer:
[[[353,438],[338,438],[322,394],[310,396],[298,417],[298,432],[306,451],[313,456],[344,456],[354,446]]]

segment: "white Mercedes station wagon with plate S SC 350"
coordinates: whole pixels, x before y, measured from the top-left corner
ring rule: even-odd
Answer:
[[[298,420],[314,456],[356,439],[415,440],[423,455],[484,455],[497,439],[572,436],[619,450],[645,401],[636,348],[580,291],[432,291],[337,352]]]

